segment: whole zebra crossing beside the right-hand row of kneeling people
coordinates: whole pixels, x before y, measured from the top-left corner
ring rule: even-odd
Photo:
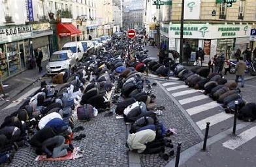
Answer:
[[[183,106],[183,105],[189,104],[191,106],[191,108],[185,109],[185,111],[190,116],[197,114],[197,116],[192,117],[192,120],[194,120],[194,122],[197,124],[200,130],[204,130],[206,128],[206,122],[210,122],[210,126],[212,126],[212,125],[217,125],[218,123],[225,122],[229,120],[229,118],[233,117],[232,114],[226,114],[223,108],[221,108],[221,105],[216,101],[208,102],[210,97],[204,94],[200,94],[200,92],[202,93],[201,90],[195,90],[193,88],[189,88],[184,83],[180,85],[180,84],[176,84],[175,82],[168,82],[168,83],[162,83],[162,85],[165,87],[165,89],[168,92],[184,89],[180,92],[174,92],[171,95],[175,98],[179,97],[177,101],[180,103],[180,105]],[[203,103],[204,101],[207,101],[207,102]],[[218,126],[214,126],[214,129],[217,129],[217,131],[221,131],[221,128]]]

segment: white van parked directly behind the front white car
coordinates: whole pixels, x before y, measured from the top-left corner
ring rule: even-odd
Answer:
[[[76,60],[81,60],[84,55],[84,48],[81,42],[68,42],[61,50],[71,50]]]

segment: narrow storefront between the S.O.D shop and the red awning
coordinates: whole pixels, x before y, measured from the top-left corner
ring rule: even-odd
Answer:
[[[52,30],[50,27],[50,23],[33,23],[33,51],[40,49],[42,51],[42,61],[48,60],[52,53]]]

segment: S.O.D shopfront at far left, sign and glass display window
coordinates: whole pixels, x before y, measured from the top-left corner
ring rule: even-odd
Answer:
[[[0,75],[2,79],[27,69],[31,57],[29,38],[31,25],[17,25],[0,29]]]

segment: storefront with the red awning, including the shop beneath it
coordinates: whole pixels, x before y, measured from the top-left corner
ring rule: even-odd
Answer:
[[[81,34],[70,21],[65,20],[65,22],[57,23],[58,47],[63,47],[67,42],[77,41]]]

